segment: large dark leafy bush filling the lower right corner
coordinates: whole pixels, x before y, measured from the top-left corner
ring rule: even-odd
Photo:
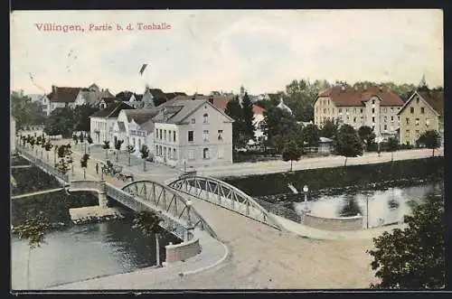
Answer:
[[[444,198],[429,195],[405,216],[406,229],[373,238],[372,270],[381,279],[372,288],[433,289],[445,286]]]

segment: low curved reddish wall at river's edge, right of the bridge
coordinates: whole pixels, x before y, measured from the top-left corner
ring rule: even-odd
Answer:
[[[306,213],[302,215],[302,223],[314,229],[358,230],[363,229],[363,216],[323,218]]]

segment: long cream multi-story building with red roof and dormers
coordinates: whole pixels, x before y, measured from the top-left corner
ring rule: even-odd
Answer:
[[[314,121],[317,126],[323,126],[326,120],[355,129],[370,126],[377,136],[396,135],[403,104],[403,99],[385,86],[335,86],[318,94]]]

